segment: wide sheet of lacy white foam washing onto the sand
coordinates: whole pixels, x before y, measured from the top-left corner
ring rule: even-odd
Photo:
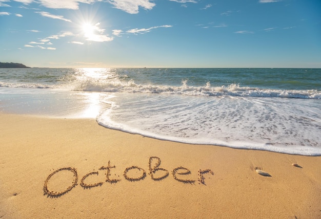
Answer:
[[[105,127],[184,143],[321,155],[318,100],[148,94],[114,100],[117,107],[97,117]]]

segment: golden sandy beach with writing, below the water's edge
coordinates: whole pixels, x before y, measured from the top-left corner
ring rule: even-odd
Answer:
[[[321,157],[161,141],[94,119],[0,124],[0,218],[321,218]]]

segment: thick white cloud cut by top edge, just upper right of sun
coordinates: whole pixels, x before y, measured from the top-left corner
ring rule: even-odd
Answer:
[[[150,0],[107,0],[114,8],[123,10],[130,14],[137,14],[139,7],[151,10],[155,4]]]

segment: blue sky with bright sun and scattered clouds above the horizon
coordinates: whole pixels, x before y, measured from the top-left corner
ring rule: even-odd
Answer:
[[[321,1],[0,0],[0,61],[321,68]]]

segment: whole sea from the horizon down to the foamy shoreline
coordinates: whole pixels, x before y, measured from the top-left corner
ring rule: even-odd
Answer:
[[[0,112],[95,118],[161,140],[321,155],[321,69],[0,69]]]

